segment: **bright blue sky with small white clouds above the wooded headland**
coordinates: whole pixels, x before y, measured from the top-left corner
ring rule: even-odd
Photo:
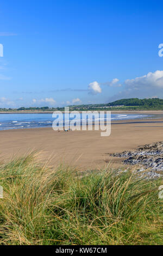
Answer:
[[[0,107],[162,98],[162,14],[155,0],[1,2]]]

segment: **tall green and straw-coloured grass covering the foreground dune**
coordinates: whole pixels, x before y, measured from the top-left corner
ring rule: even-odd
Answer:
[[[34,154],[2,163],[0,244],[162,245],[161,182],[42,167]]]

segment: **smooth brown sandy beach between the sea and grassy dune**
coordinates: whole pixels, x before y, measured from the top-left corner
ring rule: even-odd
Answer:
[[[64,162],[81,169],[99,169],[111,162],[112,167],[117,167],[122,165],[122,159],[108,153],[161,141],[162,131],[163,119],[114,121],[109,137],[101,137],[101,131],[5,130],[0,131],[0,157],[6,161],[37,150],[41,151],[41,160],[51,166]]]

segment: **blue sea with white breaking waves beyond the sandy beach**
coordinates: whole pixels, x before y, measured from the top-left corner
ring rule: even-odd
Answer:
[[[82,113],[79,114],[78,118],[74,116],[77,120],[77,125],[81,122],[87,122],[89,124],[92,121],[89,117],[83,118]],[[152,115],[149,114],[111,114],[111,120],[135,120],[135,119],[147,119],[151,118]],[[59,114],[59,123],[66,126],[65,114],[63,116]],[[52,127],[53,121],[56,118],[52,117],[52,113],[9,113],[0,114],[0,130],[14,130],[14,129],[31,129],[40,127]],[[70,117],[70,121],[74,118]],[[106,119],[106,114],[100,115],[98,118],[95,117],[95,121],[104,121]]]

